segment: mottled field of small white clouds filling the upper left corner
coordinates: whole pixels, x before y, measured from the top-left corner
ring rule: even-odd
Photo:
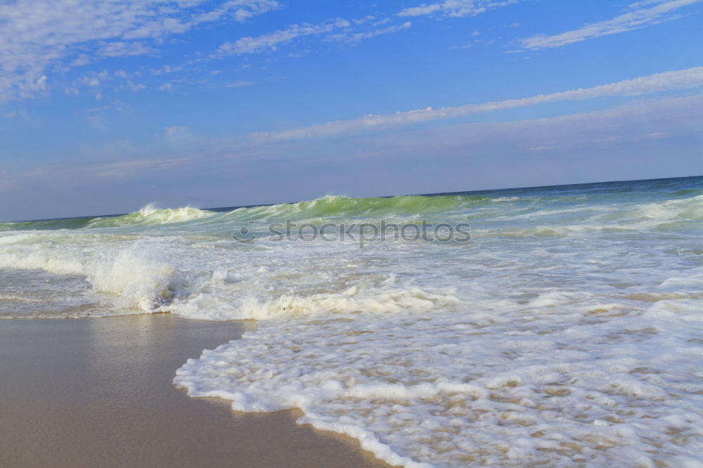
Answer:
[[[157,40],[171,34],[205,22],[243,21],[278,6],[275,0],[2,1],[0,103],[45,93],[49,70],[152,53]]]

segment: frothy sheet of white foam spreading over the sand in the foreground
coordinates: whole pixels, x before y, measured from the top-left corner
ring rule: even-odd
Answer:
[[[174,382],[236,410],[300,408],[301,424],[408,467],[680,465],[702,453],[699,330],[541,299],[496,320],[465,309],[260,323]],[[540,310],[557,304],[571,313]]]

